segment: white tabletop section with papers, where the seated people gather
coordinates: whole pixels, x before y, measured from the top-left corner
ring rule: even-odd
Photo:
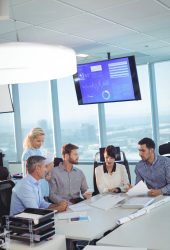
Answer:
[[[101,198],[101,195],[92,197],[90,200],[83,201],[90,205],[96,199]],[[116,227],[116,222],[119,218],[127,216],[137,209],[124,209],[121,207],[112,208],[107,211],[91,207],[87,210],[87,215],[90,221],[87,222],[68,222],[68,220],[57,220],[56,216],[56,233],[65,234],[67,239],[87,240],[92,241],[99,239],[108,230]]]

